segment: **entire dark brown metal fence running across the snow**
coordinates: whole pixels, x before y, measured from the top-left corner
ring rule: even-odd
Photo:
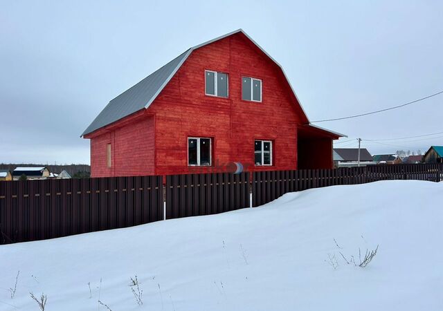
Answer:
[[[0,244],[36,241],[250,206],[250,173],[0,182]],[[443,164],[257,171],[253,206],[292,191],[378,180],[443,179]],[[163,194],[165,192],[165,198]]]

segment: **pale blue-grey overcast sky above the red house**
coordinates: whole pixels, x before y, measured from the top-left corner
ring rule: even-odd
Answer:
[[[313,2],[1,1],[0,162],[89,164],[80,134],[109,100],[237,28],[283,66],[310,120],[443,90],[442,1]],[[439,95],[317,125],[392,153],[443,144],[443,134],[386,140],[443,132],[442,117]]]

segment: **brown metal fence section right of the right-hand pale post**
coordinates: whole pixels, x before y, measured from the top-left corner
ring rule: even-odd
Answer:
[[[356,185],[379,180],[443,180],[443,164],[395,164],[340,169],[257,171],[253,173],[253,207],[264,205],[287,192]]]

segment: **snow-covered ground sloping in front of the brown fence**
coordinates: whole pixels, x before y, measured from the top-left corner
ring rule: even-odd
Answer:
[[[374,182],[0,246],[0,310],[39,310],[30,292],[48,311],[443,310],[442,202],[443,182]],[[377,245],[365,268],[340,254],[358,263]]]

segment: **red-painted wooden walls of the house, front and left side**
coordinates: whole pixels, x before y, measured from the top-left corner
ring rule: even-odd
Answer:
[[[228,98],[205,95],[205,69],[228,73]],[[262,102],[242,100],[242,76],[262,79]],[[215,41],[191,53],[141,117],[90,135],[92,176],[224,171],[229,162],[248,171],[297,169],[297,124],[306,119],[295,102],[280,68],[242,33]],[[213,138],[213,167],[188,167],[189,136]],[[255,139],[273,141],[271,167],[255,167]]]

